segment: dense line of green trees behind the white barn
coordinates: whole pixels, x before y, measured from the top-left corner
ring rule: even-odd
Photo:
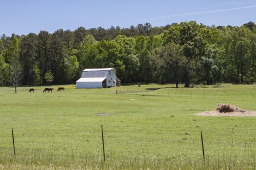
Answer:
[[[254,82],[256,25],[181,22],[1,36],[0,85],[75,83],[85,68],[115,67],[123,83]]]

